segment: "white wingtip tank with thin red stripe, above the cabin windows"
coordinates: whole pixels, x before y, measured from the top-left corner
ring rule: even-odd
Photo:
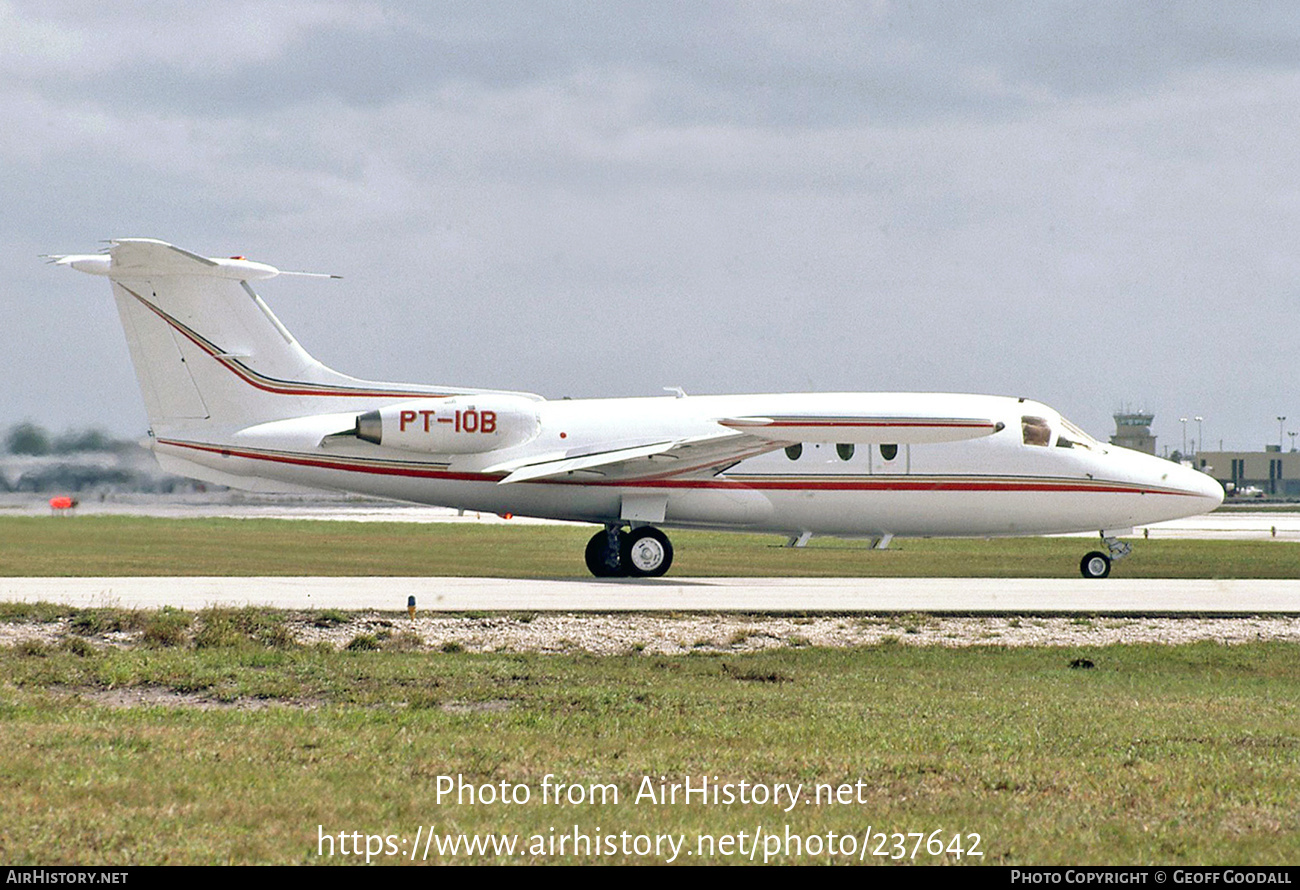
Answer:
[[[923,444],[993,435],[1002,424],[987,417],[883,417],[863,414],[772,414],[724,417],[723,426],[770,442]]]

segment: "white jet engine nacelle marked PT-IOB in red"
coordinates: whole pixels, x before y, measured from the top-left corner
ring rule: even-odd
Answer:
[[[356,438],[389,448],[469,455],[524,444],[541,430],[537,403],[512,395],[413,399],[356,417]]]

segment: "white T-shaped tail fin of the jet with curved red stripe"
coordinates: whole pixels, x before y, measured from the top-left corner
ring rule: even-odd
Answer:
[[[107,255],[55,261],[112,282],[157,435],[181,429],[220,435],[286,417],[464,391],[374,383],[326,368],[250,286],[281,274],[274,266],[208,259],[146,238],[114,240]]]

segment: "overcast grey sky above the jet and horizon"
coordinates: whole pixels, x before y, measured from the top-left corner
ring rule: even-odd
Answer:
[[[260,291],[363,377],[1300,429],[1288,3],[0,0],[0,426],[143,433],[36,259],[142,235],[344,275]]]

